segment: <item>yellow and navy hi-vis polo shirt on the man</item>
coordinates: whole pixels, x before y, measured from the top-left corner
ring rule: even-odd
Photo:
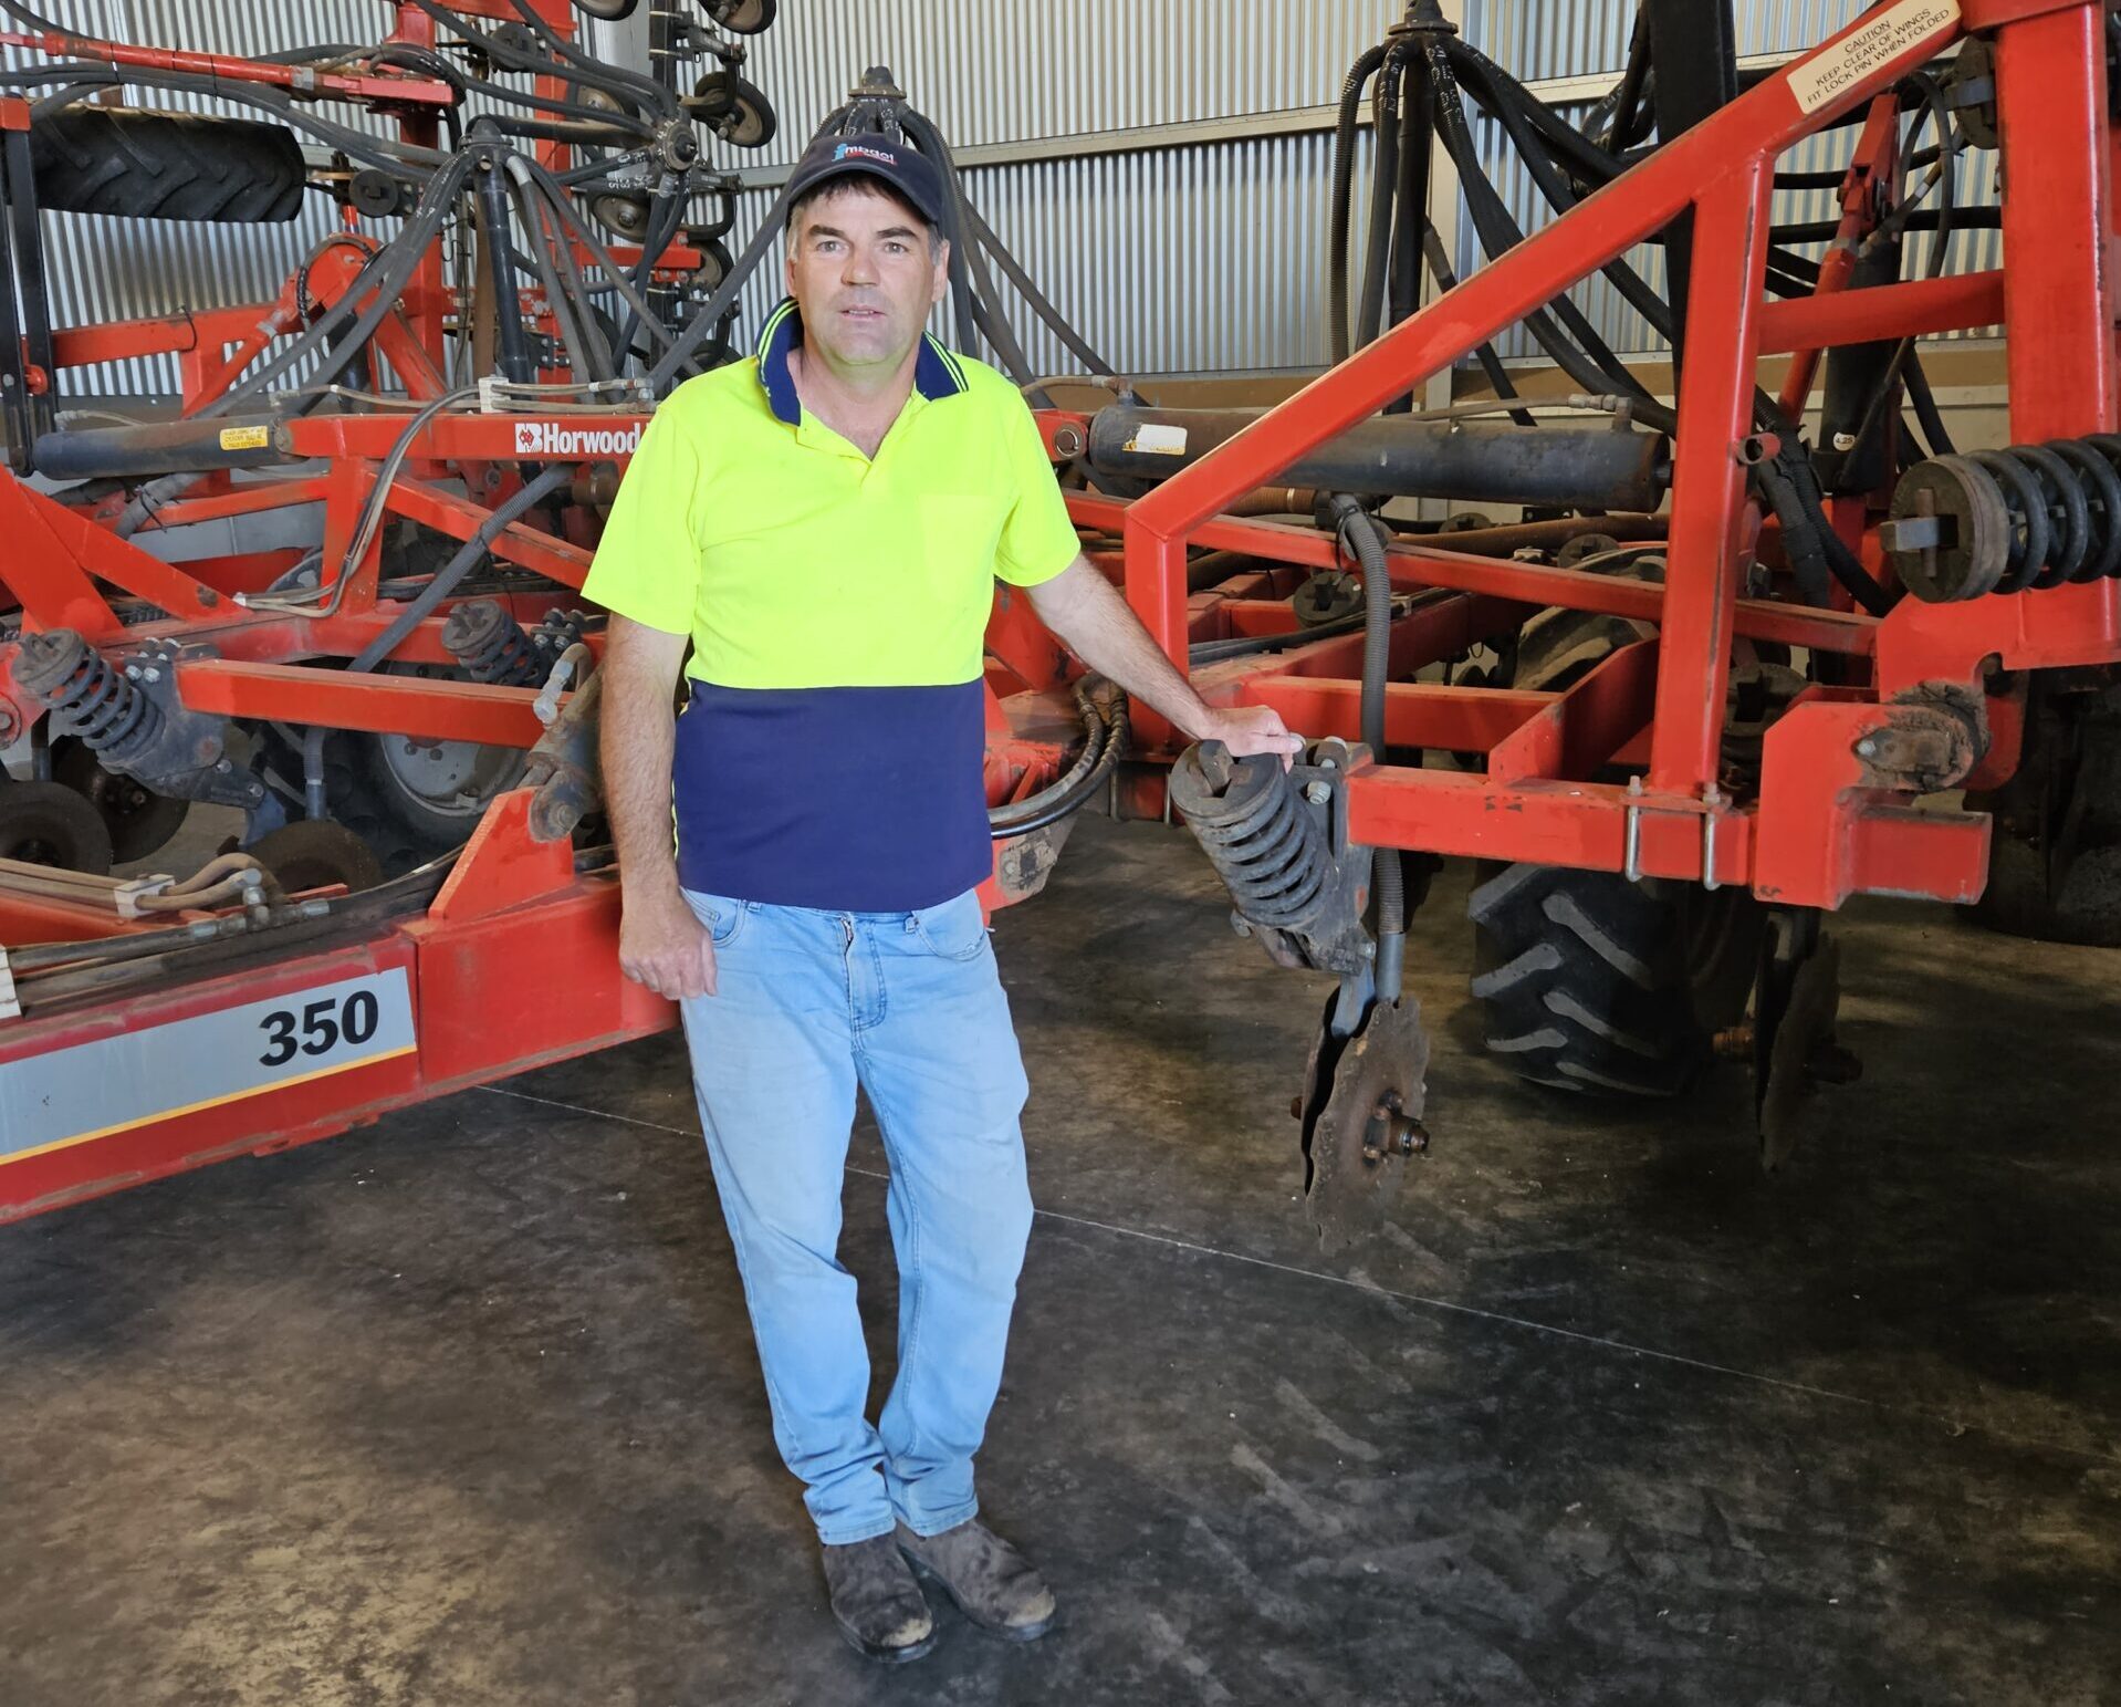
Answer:
[[[583,592],[691,635],[679,881],[776,907],[933,907],[993,868],[982,641],[1075,527],[1031,410],[923,338],[876,461],[808,414],[795,304],[681,384],[626,469]]]

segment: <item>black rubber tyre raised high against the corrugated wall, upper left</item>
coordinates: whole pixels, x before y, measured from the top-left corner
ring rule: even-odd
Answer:
[[[30,127],[36,200],[49,212],[284,223],[308,166],[295,132],[257,119],[68,106]]]

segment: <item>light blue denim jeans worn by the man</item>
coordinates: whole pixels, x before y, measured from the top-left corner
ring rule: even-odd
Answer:
[[[980,904],[825,913],[687,892],[719,989],[685,1002],[700,1125],[766,1372],[774,1444],[827,1544],[976,1510],[1031,1234],[1029,1087]],[[836,1255],[855,1087],[891,1161],[899,1369],[867,1420],[855,1276]]]

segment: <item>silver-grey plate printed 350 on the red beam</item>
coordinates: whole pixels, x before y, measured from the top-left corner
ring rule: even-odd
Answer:
[[[414,1049],[411,987],[392,966],[0,1062],[0,1163]]]

